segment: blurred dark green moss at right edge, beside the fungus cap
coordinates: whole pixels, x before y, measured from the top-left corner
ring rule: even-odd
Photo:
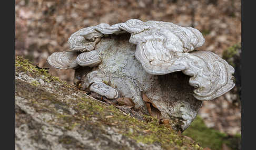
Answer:
[[[241,49],[241,43],[235,44],[229,47],[227,50],[224,50],[222,53],[222,58],[225,59],[231,66],[235,67],[233,62],[233,57],[238,55],[239,49]]]

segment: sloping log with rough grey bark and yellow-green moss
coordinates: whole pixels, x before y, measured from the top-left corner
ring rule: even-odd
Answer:
[[[15,75],[15,149],[203,149],[157,119],[137,120],[21,57]]]

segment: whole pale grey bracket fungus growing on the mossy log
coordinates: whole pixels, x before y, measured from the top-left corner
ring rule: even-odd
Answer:
[[[182,122],[184,131],[202,101],[234,87],[233,67],[211,51],[195,50],[204,41],[195,28],[130,19],[76,31],[68,38],[70,50],[53,53],[47,62],[58,69],[75,69],[83,90],[110,100],[130,98],[143,113],[146,94],[162,117],[178,120],[174,126]]]

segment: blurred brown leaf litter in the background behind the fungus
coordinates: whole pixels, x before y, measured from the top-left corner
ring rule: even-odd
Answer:
[[[68,50],[67,39],[76,30],[127,19],[159,20],[199,29],[205,44],[199,48],[223,56],[241,42],[241,0],[16,0],[15,55],[23,56],[53,76],[73,84],[74,71],[51,68],[51,53]],[[237,88],[203,102],[199,115],[207,126],[227,134],[241,134],[241,105]]]

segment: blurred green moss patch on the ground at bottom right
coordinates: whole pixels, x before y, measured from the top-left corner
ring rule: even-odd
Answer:
[[[208,128],[200,116],[195,118],[189,128],[183,132],[183,135],[193,138],[193,140],[199,142],[203,147],[209,147],[212,150],[222,149],[223,143],[229,146],[234,144],[230,141],[228,135]],[[239,138],[239,135],[237,137]]]

